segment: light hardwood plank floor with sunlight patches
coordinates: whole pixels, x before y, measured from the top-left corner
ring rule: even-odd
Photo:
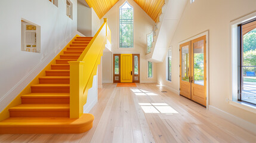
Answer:
[[[0,135],[0,142],[255,142],[256,135],[156,84],[104,84],[81,134]],[[162,93],[161,91],[167,91]]]

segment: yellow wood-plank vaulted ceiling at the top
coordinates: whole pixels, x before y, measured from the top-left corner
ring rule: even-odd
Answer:
[[[119,0],[85,0],[93,8],[99,18],[102,18]],[[162,13],[165,0],[134,0],[156,23]]]

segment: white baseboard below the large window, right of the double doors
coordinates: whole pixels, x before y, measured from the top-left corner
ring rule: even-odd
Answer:
[[[240,119],[239,117],[236,117],[230,113],[227,113],[226,111],[220,110],[212,105],[209,105],[209,110],[215,114],[220,115],[224,119],[229,120],[229,122],[232,122],[233,124],[238,125],[240,128],[249,130],[250,132],[256,135],[256,125],[246,120]]]

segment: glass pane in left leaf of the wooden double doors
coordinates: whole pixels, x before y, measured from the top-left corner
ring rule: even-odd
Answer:
[[[181,48],[182,61],[181,61],[181,74],[182,80],[189,82],[189,45]]]

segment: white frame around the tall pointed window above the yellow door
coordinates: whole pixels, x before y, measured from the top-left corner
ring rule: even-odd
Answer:
[[[119,8],[118,8],[118,49],[125,49],[125,50],[129,50],[129,49],[134,49],[134,7],[132,7],[131,4],[129,4],[129,6],[132,7],[132,10],[133,10],[133,13],[132,13],[132,18],[133,18],[133,28],[132,28],[132,47],[131,48],[122,48],[120,47],[120,8],[125,4],[125,2],[127,2],[129,4],[128,1],[124,1],[121,5],[119,5]]]

